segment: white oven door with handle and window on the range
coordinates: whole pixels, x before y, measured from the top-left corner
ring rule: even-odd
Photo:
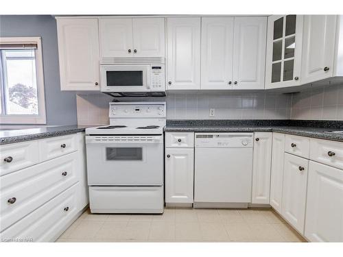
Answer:
[[[163,185],[163,136],[86,136],[90,186]]]

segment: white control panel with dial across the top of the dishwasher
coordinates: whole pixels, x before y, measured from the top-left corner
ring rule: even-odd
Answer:
[[[253,147],[253,133],[196,133],[196,147]]]

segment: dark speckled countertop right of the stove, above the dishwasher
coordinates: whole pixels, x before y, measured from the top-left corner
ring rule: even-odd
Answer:
[[[170,120],[165,132],[281,132],[327,140],[343,141],[343,134],[327,133],[343,130],[342,121],[296,120]]]

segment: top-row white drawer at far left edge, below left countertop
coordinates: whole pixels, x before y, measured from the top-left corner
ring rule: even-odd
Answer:
[[[32,166],[38,162],[38,141],[0,146],[0,175]]]

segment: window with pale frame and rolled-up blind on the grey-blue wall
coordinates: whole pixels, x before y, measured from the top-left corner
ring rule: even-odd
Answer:
[[[39,37],[0,38],[1,123],[45,124]]]

